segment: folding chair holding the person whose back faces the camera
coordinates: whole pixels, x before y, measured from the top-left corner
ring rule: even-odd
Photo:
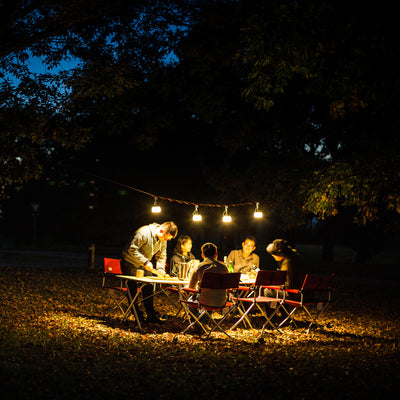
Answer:
[[[234,293],[240,282],[240,272],[236,273],[224,273],[218,274],[213,272],[205,272],[201,279],[200,288],[197,291],[198,299],[181,300],[187,314],[191,317],[189,319],[189,325],[185,328],[182,333],[188,331],[192,326],[198,324],[201,329],[207,334],[206,339],[210,337],[211,333],[216,329],[219,329],[230,339],[232,337],[224,330],[221,324],[230,316],[230,314],[236,309],[236,303],[230,299],[231,293]],[[220,306],[210,304],[210,298],[212,297],[212,291],[224,290],[225,301]],[[190,291],[190,290],[189,290]],[[210,296],[211,295],[211,296]],[[222,313],[224,309],[227,309],[222,318],[216,319],[213,317],[214,312]],[[198,314],[194,312],[198,310]],[[204,322],[203,317],[207,318],[207,322],[212,323],[211,328],[208,328]]]

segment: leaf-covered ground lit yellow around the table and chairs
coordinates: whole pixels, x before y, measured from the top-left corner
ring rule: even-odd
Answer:
[[[182,320],[121,323],[84,268],[0,267],[3,399],[377,399],[399,389],[397,281],[338,276],[335,302],[304,333],[180,334]],[[159,309],[165,303],[158,301]]]

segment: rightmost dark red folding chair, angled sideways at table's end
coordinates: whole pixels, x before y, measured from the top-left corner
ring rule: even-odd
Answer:
[[[332,301],[333,292],[333,277],[334,274],[330,275],[314,275],[307,274],[304,278],[301,289],[285,289],[287,296],[283,304],[287,317],[279,324],[283,325],[287,320],[291,320],[295,326],[296,322],[293,319],[293,315],[297,310],[304,310],[310,318],[309,325],[306,328],[306,333],[310,332],[311,325],[317,323],[319,316],[326,310]],[[298,295],[299,298],[294,300],[293,295]],[[288,311],[285,306],[292,306],[292,311]],[[313,310],[313,312],[311,312]],[[313,315],[314,314],[314,315]]]

